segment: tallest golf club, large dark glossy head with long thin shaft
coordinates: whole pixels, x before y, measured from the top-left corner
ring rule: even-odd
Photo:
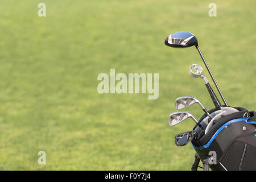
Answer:
[[[176,48],[185,48],[185,47],[195,46],[201,56],[201,59],[203,60],[203,62],[205,64],[205,67],[207,67],[210,77],[212,77],[212,81],[214,82],[214,85],[216,86],[218,93],[220,93],[220,96],[221,96],[224,104],[226,106],[228,106],[224,96],[221,93],[220,88],[218,87],[218,84],[217,84],[215,78],[212,75],[212,72],[210,71],[210,68],[209,68],[206,60],[204,59],[203,54],[200,51],[200,48],[197,43],[197,38],[195,35],[191,34],[191,32],[186,32],[186,31],[175,32],[174,34],[169,35],[166,38],[164,43],[166,44],[166,46],[176,47]]]

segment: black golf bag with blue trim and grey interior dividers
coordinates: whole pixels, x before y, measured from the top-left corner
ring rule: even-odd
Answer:
[[[191,140],[196,150],[192,170],[197,170],[201,160],[204,170],[256,171],[256,113],[242,107],[232,108],[238,111],[221,115],[217,122],[213,119],[208,123],[212,126],[207,133],[197,125],[194,127],[193,131],[199,134]],[[209,113],[214,111],[217,109]],[[199,123],[206,117],[204,114]]]

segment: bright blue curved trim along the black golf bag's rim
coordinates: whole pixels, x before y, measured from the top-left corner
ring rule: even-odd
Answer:
[[[250,121],[250,122],[247,122],[247,120],[249,119],[250,117],[248,117],[248,118],[238,118],[238,119],[233,119],[233,120],[231,120],[231,121],[229,121],[229,122],[226,122],[225,123],[225,125],[222,125],[217,131],[216,131],[216,133],[213,135],[213,137],[209,140],[209,142],[207,143],[207,144],[205,144],[204,146],[200,146],[200,147],[195,147],[195,146],[193,146],[193,144],[192,144],[192,146],[196,149],[196,150],[200,150],[201,148],[208,148],[209,146],[210,146],[210,144],[212,143],[212,141],[214,140],[214,138],[216,138],[217,137],[217,135],[220,133],[220,131],[222,130],[222,129],[224,129],[225,128],[225,126],[228,126],[228,125],[230,125],[230,124],[232,124],[232,123],[234,123],[234,122],[245,122],[245,123],[247,123],[247,124],[255,124],[256,125],[256,122],[254,122],[254,121]],[[256,137],[256,135],[254,135],[255,137]]]

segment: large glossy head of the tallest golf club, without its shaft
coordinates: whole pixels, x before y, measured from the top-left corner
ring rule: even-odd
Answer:
[[[184,48],[197,46],[197,38],[191,32],[180,31],[171,34],[166,38],[164,44],[170,47]]]

